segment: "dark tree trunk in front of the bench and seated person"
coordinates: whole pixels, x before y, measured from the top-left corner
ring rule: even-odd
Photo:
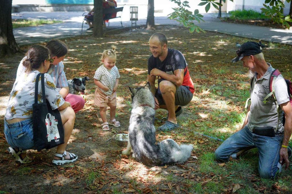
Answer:
[[[94,0],[93,37],[103,37],[102,0]]]

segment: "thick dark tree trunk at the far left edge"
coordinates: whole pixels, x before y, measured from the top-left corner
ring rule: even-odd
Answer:
[[[0,0],[0,57],[20,52],[13,36],[12,0]]]

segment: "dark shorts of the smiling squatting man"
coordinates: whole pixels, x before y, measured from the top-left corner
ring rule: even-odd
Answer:
[[[159,105],[165,105],[165,102],[164,102],[164,100],[162,98],[162,94],[161,94],[161,91],[160,91],[159,87],[155,92],[155,97],[157,98],[157,100],[159,102]],[[174,100],[174,105],[185,106],[188,103],[190,103],[192,98],[193,98],[193,94],[189,90],[188,86],[176,87],[176,92],[175,92],[175,95],[174,95],[174,99],[175,99]]]

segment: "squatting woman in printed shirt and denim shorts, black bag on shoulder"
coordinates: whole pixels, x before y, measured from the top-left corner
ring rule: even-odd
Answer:
[[[17,77],[13,84],[4,117],[4,135],[11,146],[7,150],[20,163],[32,162],[32,159],[26,155],[26,150],[36,148],[32,122],[36,76],[39,73],[47,72],[50,64],[53,63],[48,48],[41,45],[33,45],[26,56],[27,58],[22,60],[25,72]],[[58,145],[52,163],[62,165],[74,162],[77,160],[77,155],[65,151],[74,127],[74,110],[56,90],[52,77],[45,73],[44,79],[46,100],[53,110],[60,111],[64,128],[64,144]],[[38,90],[42,91],[41,84],[39,84]],[[39,103],[43,101],[41,95],[39,95],[38,101]]]

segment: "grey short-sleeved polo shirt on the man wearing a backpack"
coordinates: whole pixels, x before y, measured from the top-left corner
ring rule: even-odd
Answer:
[[[248,128],[252,132],[255,127],[267,127],[271,126],[274,129],[277,127],[278,114],[276,110],[275,100],[272,96],[267,99],[267,102],[263,102],[267,94],[270,93],[269,78],[274,70],[271,64],[267,63],[270,67],[266,73],[260,79],[256,79],[250,89],[251,107],[250,114],[248,115]],[[278,75],[275,80],[275,96],[278,105],[289,101],[287,92],[287,85],[282,75]],[[279,127],[278,131],[283,132],[283,111],[279,106]],[[276,132],[276,131],[275,131]]]

